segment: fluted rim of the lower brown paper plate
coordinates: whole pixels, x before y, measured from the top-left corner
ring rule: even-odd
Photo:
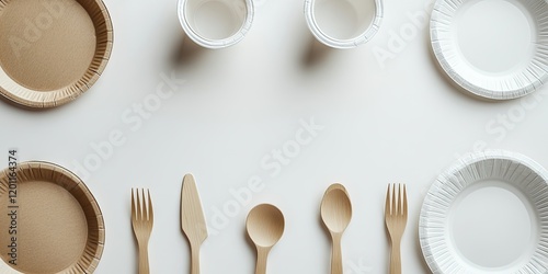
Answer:
[[[18,181],[39,178],[67,190],[82,206],[88,222],[88,239],[80,259],[60,273],[93,273],[103,254],[105,229],[103,214],[82,180],[69,170],[45,161],[21,162],[16,168]],[[9,169],[0,171],[0,195],[8,193]],[[0,273],[21,273],[0,259]]]

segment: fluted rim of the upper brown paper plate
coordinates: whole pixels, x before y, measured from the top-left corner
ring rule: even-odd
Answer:
[[[0,11],[11,0],[0,0]],[[36,92],[19,84],[7,84],[0,78],[0,94],[15,104],[31,109],[47,109],[66,104],[90,89],[101,77],[111,57],[114,34],[109,10],[102,0],[75,0],[88,12],[95,27],[96,45],[93,59],[82,77],[62,89]],[[1,13],[1,12],[0,12]]]

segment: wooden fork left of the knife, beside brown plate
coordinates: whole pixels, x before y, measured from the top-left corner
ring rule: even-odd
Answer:
[[[136,195],[134,195],[134,192]],[[148,239],[152,232],[155,215],[152,212],[152,201],[150,191],[147,190],[148,203],[145,199],[145,190],[132,189],[132,225],[135,238],[139,246],[139,274],[149,274],[148,265]]]

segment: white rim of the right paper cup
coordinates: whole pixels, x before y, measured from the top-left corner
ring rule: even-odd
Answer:
[[[350,39],[338,39],[327,35],[321,31],[321,27],[318,25],[313,13],[315,2],[316,0],[305,0],[306,21],[308,24],[308,28],[313,34],[313,36],[327,46],[341,49],[354,48],[370,41],[380,28],[380,23],[384,16],[383,0],[375,0],[375,15],[367,30]]]

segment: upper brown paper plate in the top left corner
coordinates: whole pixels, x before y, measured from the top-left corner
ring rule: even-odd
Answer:
[[[112,43],[101,0],[0,0],[0,94],[33,109],[68,103],[99,79]]]

